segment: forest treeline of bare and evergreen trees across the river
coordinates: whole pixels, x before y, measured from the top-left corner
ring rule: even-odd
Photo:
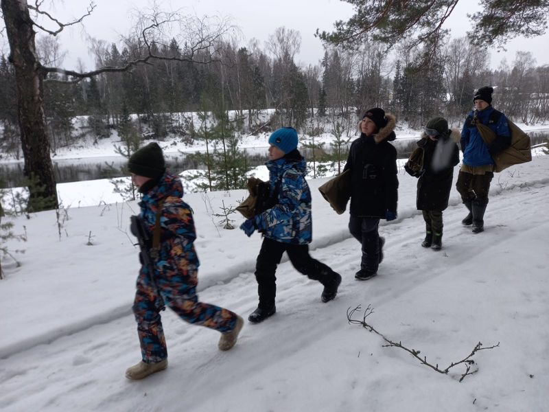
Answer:
[[[128,52],[137,47],[92,46],[97,67],[120,67],[139,57]],[[322,124],[335,125],[333,119],[355,124],[358,113],[381,106],[419,128],[441,113],[454,122],[463,119],[474,89],[483,85],[496,87],[495,106],[515,121],[532,124],[549,117],[549,66],[537,66],[530,52],[517,52],[512,62],[492,69],[484,49],[454,38],[441,43],[436,57],[421,66],[421,50],[387,54],[384,45],[366,43],[352,51],[327,47],[317,65],[299,66],[300,46],[299,32],[280,27],[263,49],[257,42],[242,47],[220,41],[202,50],[202,56],[192,56],[193,62],[152,59],[132,71],[80,82],[50,73],[43,99],[51,148],[55,152],[79,138],[72,122],[79,115],[88,116],[89,133],[96,139],[117,128],[122,134],[132,131],[138,140],[175,135],[192,141],[200,125],[191,116],[175,115],[185,112],[210,113],[214,122],[226,123],[222,133],[293,126],[314,135]],[[186,53],[175,40],[152,47],[165,58]],[[38,39],[41,61],[61,66],[60,50],[56,38]],[[8,56],[1,56],[0,147],[19,157],[15,95],[14,71]],[[275,109],[268,122],[259,116],[265,108]],[[237,115],[229,119],[228,111]],[[139,113],[137,120],[128,122],[129,113]]]

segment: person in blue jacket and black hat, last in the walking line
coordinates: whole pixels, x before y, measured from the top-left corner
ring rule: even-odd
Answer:
[[[473,97],[475,108],[467,115],[461,130],[463,165],[458,174],[456,188],[469,214],[463,225],[473,225],[473,233],[484,231],[484,212],[488,205],[490,183],[493,179],[492,156],[511,144],[511,132],[507,117],[491,106],[492,87],[481,87]],[[484,124],[495,133],[495,139],[487,145],[477,128]]]

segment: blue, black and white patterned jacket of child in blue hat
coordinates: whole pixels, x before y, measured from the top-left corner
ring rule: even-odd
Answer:
[[[305,159],[301,155],[296,159],[287,155],[265,164],[269,170],[270,193],[275,196],[276,204],[255,216],[258,230],[277,242],[310,243],[311,191],[305,181]]]

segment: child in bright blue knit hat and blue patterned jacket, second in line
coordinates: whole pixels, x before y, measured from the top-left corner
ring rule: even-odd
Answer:
[[[320,299],[328,302],[338,293],[341,276],[309,255],[312,241],[311,192],[305,181],[307,165],[297,150],[297,132],[283,127],[269,137],[269,201],[266,210],[246,220],[240,229],[247,236],[254,231],[264,239],[257,256],[255,279],[259,305],[248,320],[259,323],[277,311],[275,273],[284,252],[297,271],[324,285]]]

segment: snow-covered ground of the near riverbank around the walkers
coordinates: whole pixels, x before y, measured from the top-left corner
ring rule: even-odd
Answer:
[[[218,351],[216,332],[163,312],[170,367],[139,382],[124,378],[140,359],[131,314],[139,262],[128,231],[137,202],[112,203],[108,181],[59,185],[71,205],[60,218],[45,211],[12,219],[27,242],[8,242],[25,250],[16,255],[21,266],[3,260],[0,410],[548,411],[549,157],[495,175],[484,233],[460,224],[465,209],[452,190],[439,252],[420,246],[417,180],[401,171],[399,217],[382,222],[385,260],[367,282],[353,277],[360,245],[349,236],[348,214],[336,215],[318,193],[324,181],[309,181],[311,249],[341,273],[338,297],[323,304],[322,286],[283,260],[277,314],[246,322],[229,352]],[[213,216],[222,201],[244,196],[185,200],[195,212],[200,299],[247,317],[257,306],[261,239],[222,229]],[[458,382],[463,365],[439,374],[348,323],[348,308],[369,304],[376,330],[441,368],[479,341],[499,346],[474,354],[478,372]]]

